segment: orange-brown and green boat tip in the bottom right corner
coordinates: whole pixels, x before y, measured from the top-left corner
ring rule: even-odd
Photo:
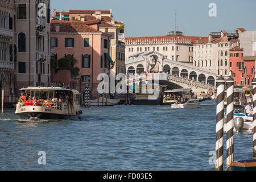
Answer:
[[[227,168],[230,171],[256,171],[256,160],[240,160],[238,162],[233,162]]]

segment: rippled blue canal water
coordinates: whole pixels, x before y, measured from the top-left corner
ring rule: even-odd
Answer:
[[[40,122],[5,110],[0,169],[214,170],[209,152],[215,147],[215,107],[215,101],[199,109],[90,107],[75,121]],[[252,158],[251,133],[236,133],[234,145],[235,160]],[[38,164],[39,151],[46,152],[45,165]]]

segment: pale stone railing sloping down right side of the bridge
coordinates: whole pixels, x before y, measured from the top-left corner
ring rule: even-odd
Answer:
[[[168,75],[168,80],[182,82],[183,84],[198,86],[198,87],[209,89],[209,90],[216,89],[216,86],[206,84],[206,83],[200,82],[200,81],[191,80],[191,79],[184,78],[184,77],[175,76],[175,75]]]

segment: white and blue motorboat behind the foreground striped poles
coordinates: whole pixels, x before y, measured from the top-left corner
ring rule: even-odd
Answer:
[[[242,131],[248,131],[248,132],[253,131],[253,115],[234,113],[233,125],[234,125],[234,120],[237,117],[243,118],[243,126],[241,128]],[[234,128],[234,130],[235,130],[235,128]],[[224,131],[226,132],[226,114],[224,115]]]

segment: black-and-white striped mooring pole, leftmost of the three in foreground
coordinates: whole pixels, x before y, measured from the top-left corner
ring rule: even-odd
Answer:
[[[216,106],[216,161],[215,170],[223,171],[223,128],[224,128],[224,88],[225,79],[221,76],[216,80],[217,106]]]

